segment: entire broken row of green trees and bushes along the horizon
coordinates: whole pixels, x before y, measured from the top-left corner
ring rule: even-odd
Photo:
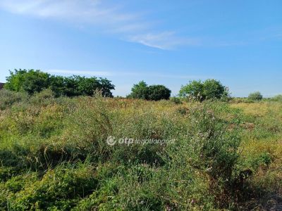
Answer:
[[[94,91],[100,91],[102,96],[113,97],[112,90],[114,84],[102,77],[81,77],[73,75],[63,77],[50,75],[40,70],[14,70],[6,77],[5,89],[11,91],[26,91],[28,94],[34,94],[44,89],[51,89],[55,96],[92,96]],[[227,101],[230,98],[228,87],[223,86],[216,79],[207,79],[205,81],[193,80],[181,87],[178,96],[190,98],[196,101],[208,99],[220,99]],[[134,84],[131,93],[127,98],[139,98],[148,101],[168,100],[171,97],[171,90],[164,85],[150,85],[141,81]],[[251,100],[261,100],[262,94],[255,92],[250,94]]]

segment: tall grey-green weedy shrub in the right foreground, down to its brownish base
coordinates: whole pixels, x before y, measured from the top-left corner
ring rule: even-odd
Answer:
[[[220,117],[223,110],[216,109],[212,104],[190,109],[185,115],[189,122],[187,136],[178,136],[180,141],[168,152],[176,166],[185,166],[208,177],[205,191],[214,196],[212,200],[216,205],[226,207],[235,193],[240,136],[236,123],[232,123],[232,131],[228,130]]]

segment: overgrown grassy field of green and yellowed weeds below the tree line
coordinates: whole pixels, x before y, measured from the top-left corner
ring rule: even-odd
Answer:
[[[282,103],[2,90],[0,160],[0,210],[270,210],[282,200]]]

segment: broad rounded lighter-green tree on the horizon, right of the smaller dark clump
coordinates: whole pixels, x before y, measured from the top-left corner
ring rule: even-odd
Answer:
[[[221,82],[215,79],[207,79],[202,81],[192,81],[187,85],[182,86],[179,91],[179,96],[188,97],[197,101],[204,101],[207,99],[221,99],[228,100],[228,88],[224,87]]]

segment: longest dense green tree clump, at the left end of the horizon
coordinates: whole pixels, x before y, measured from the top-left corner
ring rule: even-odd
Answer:
[[[51,89],[56,96],[91,96],[94,91],[101,91],[102,96],[112,97],[114,84],[104,78],[81,77],[73,75],[62,77],[49,75],[40,70],[14,70],[6,77],[5,89],[27,91],[28,94]]]

